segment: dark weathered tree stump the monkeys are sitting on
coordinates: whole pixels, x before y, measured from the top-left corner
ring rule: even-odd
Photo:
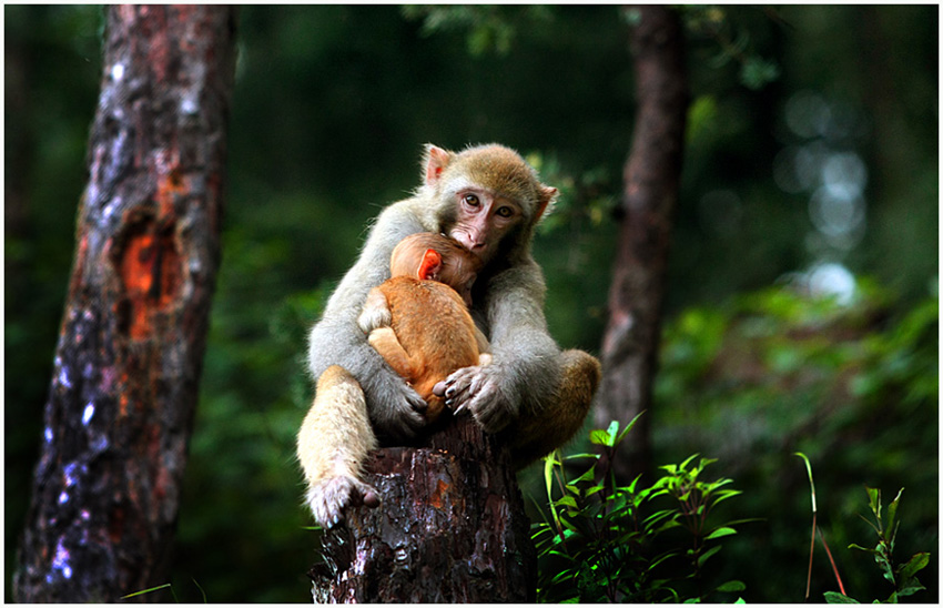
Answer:
[[[375,509],[325,531],[316,602],[533,602],[537,554],[510,455],[463,416],[426,447],[376,450]]]

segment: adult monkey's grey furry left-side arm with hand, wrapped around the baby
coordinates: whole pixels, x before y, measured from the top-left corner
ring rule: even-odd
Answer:
[[[394,439],[413,437],[427,424],[422,414],[427,404],[367,343],[357,316],[371,288],[389,277],[393,247],[405,236],[424,230],[409,206],[397,203],[384,210],[357,263],[341,281],[308,336],[312,375],[320,377],[331,365],[347,369],[364,391],[377,434]]]

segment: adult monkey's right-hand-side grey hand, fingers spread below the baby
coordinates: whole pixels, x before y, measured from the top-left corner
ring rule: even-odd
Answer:
[[[517,418],[517,408],[504,388],[505,374],[500,365],[463,367],[433,387],[433,393],[445,396],[445,405],[459,414],[467,409],[481,428],[497,433]]]

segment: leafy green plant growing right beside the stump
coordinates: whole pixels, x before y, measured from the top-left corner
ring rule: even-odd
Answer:
[[[618,422],[591,430],[600,453],[561,457],[557,450],[545,458],[549,517],[534,525],[538,601],[703,601],[746,589],[704,575],[721,549],[718,539],[737,534],[736,523],[709,519],[718,504],[740,494],[724,488],[730,479],[703,480],[714,460],[694,464],[694,455],[663,466],[650,487],[640,478],[616,485],[609,465],[637,420],[621,432]],[[588,468],[567,477],[568,464],[586,460]]]

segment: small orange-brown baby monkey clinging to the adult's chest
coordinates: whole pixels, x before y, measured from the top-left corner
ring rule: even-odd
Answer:
[[[393,250],[391,278],[371,290],[357,318],[371,346],[426,401],[429,423],[445,404],[436,384],[490,362],[488,341],[468,313],[480,267],[478,256],[448,236],[409,235]]]

